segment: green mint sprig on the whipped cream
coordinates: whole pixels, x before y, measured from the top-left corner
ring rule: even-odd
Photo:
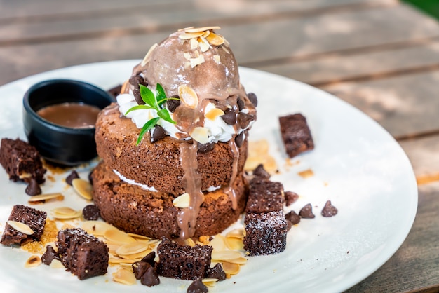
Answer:
[[[160,83],[157,83],[156,95],[154,95],[154,93],[152,93],[152,91],[146,86],[143,86],[142,84],[140,84],[139,86],[140,86],[140,97],[142,97],[142,100],[143,102],[145,102],[145,104],[140,104],[131,107],[128,111],[126,111],[125,116],[128,113],[130,113],[130,111],[142,110],[142,109],[154,109],[157,111],[158,117],[151,118],[149,119],[149,121],[147,121],[147,123],[144,123],[142,130],[140,130],[139,138],[137,138],[137,142],[135,144],[136,146],[140,144],[143,135],[151,128],[153,128],[154,125],[156,125],[160,119],[163,119],[164,121],[168,121],[169,123],[176,124],[176,122],[173,121],[173,118],[171,118],[168,109],[166,109],[164,105],[167,100],[180,100],[177,97],[166,97],[165,90],[163,90],[163,87],[160,85]]]

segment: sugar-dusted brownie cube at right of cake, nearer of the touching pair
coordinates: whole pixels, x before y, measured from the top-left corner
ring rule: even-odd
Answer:
[[[245,215],[244,249],[248,255],[277,254],[286,247],[288,224],[283,212]]]

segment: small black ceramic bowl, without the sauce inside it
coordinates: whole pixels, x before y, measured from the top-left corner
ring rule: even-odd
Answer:
[[[69,79],[41,81],[23,98],[23,123],[29,144],[47,161],[79,165],[97,156],[95,127],[70,128],[52,123],[36,114],[53,104],[83,103],[100,109],[114,102],[112,95],[90,83]]]

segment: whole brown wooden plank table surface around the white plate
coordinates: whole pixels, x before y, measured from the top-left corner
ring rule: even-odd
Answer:
[[[439,23],[397,0],[0,0],[0,85],[140,59],[187,26],[219,25],[242,66],[341,97],[401,144],[419,184],[398,252],[348,292],[439,290]]]

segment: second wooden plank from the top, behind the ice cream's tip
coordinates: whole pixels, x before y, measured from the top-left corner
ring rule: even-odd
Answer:
[[[346,9],[343,5],[346,0],[337,0],[342,11]],[[352,0],[349,0],[352,1]],[[212,2],[213,3],[213,2]],[[331,2],[332,3],[332,2]],[[335,2],[337,3],[337,2]],[[355,3],[354,3],[355,4]],[[368,3],[359,3],[361,6],[372,4],[379,7],[393,6],[396,0],[378,1],[372,0]],[[360,6],[360,7],[361,7]],[[349,6],[350,7],[350,6]],[[332,4],[332,8],[337,8]],[[358,5],[352,6],[358,10]],[[246,3],[245,6],[238,9],[219,9],[215,6],[197,6],[194,3],[165,3],[162,6],[137,7],[128,9],[128,11],[115,11],[109,14],[104,11],[95,11],[93,13],[76,13],[74,18],[60,18],[55,15],[55,20],[41,20],[40,22],[27,23],[10,20],[7,24],[0,26],[0,46],[11,46],[20,43],[31,43],[36,41],[51,41],[90,37],[99,38],[104,35],[112,35],[112,32],[124,32],[125,34],[138,34],[145,32],[160,32],[164,30],[175,30],[189,25],[205,25],[209,22],[224,24],[227,22],[259,22],[266,18],[285,18],[291,16],[302,18],[309,15],[315,9],[309,6],[308,11],[297,1],[274,1],[256,2],[255,4]],[[318,11],[311,13],[316,17],[316,13],[327,13],[327,8],[318,8]],[[97,13],[104,13],[99,15]],[[1,23],[1,22],[0,22]]]

